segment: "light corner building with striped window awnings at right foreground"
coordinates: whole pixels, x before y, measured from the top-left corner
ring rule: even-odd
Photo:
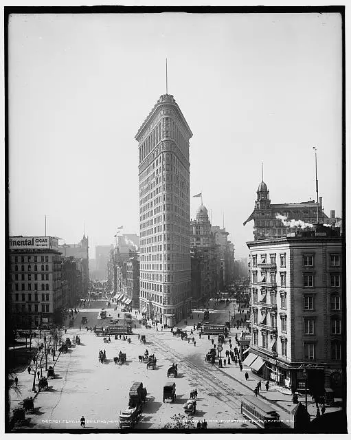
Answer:
[[[339,229],[315,225],[250,241],[251,348],[244,362],[264,379],[315,396],[341,395],[346,358]]]

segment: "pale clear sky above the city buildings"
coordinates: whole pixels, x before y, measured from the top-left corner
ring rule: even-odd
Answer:
[[[190,197],[248,254],[271,203],[341,216],[339,14],[14,14],[9,24],[9,231],[95,245],[139,234],[135,135],[168,93],[187,120]],[[190,198],[191,217],[199,198]]]

